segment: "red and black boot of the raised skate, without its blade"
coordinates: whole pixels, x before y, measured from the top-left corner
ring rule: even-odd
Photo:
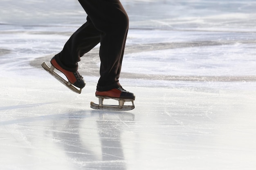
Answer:
[[[67,71],[65,69],[63,69],[55,60],[55,58],[53,57],[51,60],[51,64],[52,66],[54,66],[58,71],[61,71],[66,77],[67,79],[70,81],[70,83],[72,83],[74,86],[78,87],[78,88],[84,88],[85,87],[85,81],[83,79],[83,77],[78,73],[78,71],[76,72],[71,72],[71,71]]]

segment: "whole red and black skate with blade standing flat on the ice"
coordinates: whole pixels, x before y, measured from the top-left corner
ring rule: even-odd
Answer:
[[[114,88],[110,91],[96,91],[95,95],[99,98],[99,104],[94,104],[94,102],[91,102],[91,108],[93,109],[127,111],[135,108],[133,103],[135,100],[135,95],[124,90],[122,87]],[[119,105],[104,105],[104,99],[118,100]],[[132,102],[132,105],[124,106],[124,102]]]

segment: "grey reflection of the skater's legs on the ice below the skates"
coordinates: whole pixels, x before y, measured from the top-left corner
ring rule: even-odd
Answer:
[[[126,170],[121,133],[134,116],[131,113],[94,112],[88,118],[72,116],[63,122],[62,129],[53,133],[53,138],[81,168]]]

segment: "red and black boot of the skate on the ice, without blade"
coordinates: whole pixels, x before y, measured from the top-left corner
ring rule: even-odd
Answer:
[[[122,87],[113,88],[110,91],[96,91],[96,97],[104,97],[106,99],[126,99],[126,100],[135,100],[135,95],[130,93]]]

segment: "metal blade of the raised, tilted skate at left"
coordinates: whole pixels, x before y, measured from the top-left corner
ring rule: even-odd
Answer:
[[[59,76],[57,73],[55,73],[53,70],[54,68],[49,68],[47,66],[47,64],[45,62],[43,62],[41,64],[41,66],[48,72],[50,73],[54,78],[56,78],[59,82],[61,82],[62,84],[64,84],[65,86],[67,86],[70,90],[74,91],[75,93],[80,94],[82,91],[82,88],[77,89],[76,87],[74,87],[70,82],[67,82],[65,79],[63,79],[61,76]]]

